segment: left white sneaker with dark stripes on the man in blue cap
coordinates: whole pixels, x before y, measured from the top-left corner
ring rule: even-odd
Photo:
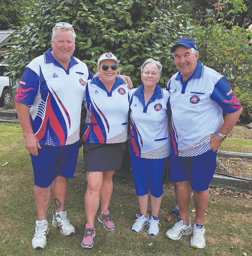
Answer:
[[[191,227],[191,222],[189,221],[189,225],[183,224],[183,220],[177,219],[177,223],[169,229],[165,236],[172,239],[172,240],[178,240],[180,239],[183,235],[191,235],[192,232],[192,227]]]

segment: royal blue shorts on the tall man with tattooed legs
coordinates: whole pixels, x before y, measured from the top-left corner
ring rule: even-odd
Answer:
[[[38,155],[31,155],[34,172],[34,184],[47,188],[59,175],[65,178],[74,177],[80,143],[64,146],[40,144]]]

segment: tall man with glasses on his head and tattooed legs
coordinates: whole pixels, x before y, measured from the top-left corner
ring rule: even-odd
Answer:
[[[25,68],[15,97],[26,150],[31,155],[38,213],[34,249],[45,248],[49,232],[47,210],[52,193],[52,225],[69,236],[75,228],[64,211],[68,178],[74,176],[79,153],[80,112],[85,84],[93,74],[73,57],[75,31],[69,23],[56,23],[52,48]],[[128,77],[126,79],[129,79]]]

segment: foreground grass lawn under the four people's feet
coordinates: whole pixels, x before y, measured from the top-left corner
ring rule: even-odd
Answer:
[[[96,218],[94,247],[81,247],[86,224],[84,195],[87,188],[85,178],[69,179],[65,210],[75,235],[63,237],[59,229],[51,225],[54,202],[51,198],[48,209],[49,235],[47,247],[33,250],[31,240],[35,231],[37,211],[34,199],[33,171],[30,155],[23,145],[19,124],[0,123],[0,255],[1,256],[59,256],[59,255],[252,255],[252,207],[251,199],[211,198],[216,203],[208,204],[205,216],[206,247],[190,248],[190,237],[178,241],[165,237],[176,219],[169,216],[177,203],[174,192],[165,190],[159,213],[160,233],[150,236],[145,227],[136,233],[131,231],[136,214],[139,213],[137,196],[133,189],[116,186],[113,190],[109,210],[116,223],[115,231],[106,231]],[[235,144],[236,145],[236,144]],[[80,149],[79,159],[83,158]],[[236,148],[230,151],[237,151]],[[8,162],[7,165],[3,165]],[[80,161],[78,162],[80,165]],[[189,205],[189,219],[195,213],[193,198]],[[150,207],[148,213],[151,213]],[[98,217],[98,216],[97,216]],[[148,245],[150,244],[150,245]]]

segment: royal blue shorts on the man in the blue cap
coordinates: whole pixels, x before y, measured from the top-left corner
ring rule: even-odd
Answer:
[[[171,182],[190,180],[194,191],[207,190],[216,167],[217,151],[208,150],[196,156],[177,156],[171,153]]]

